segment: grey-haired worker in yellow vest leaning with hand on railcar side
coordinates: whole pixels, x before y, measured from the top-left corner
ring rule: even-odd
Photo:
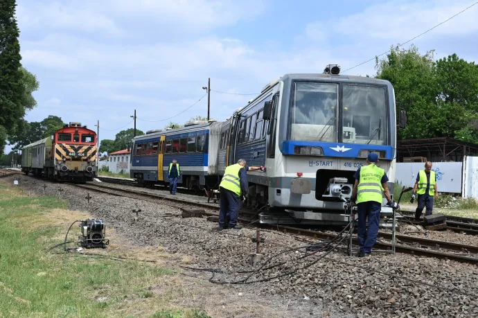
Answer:
[[[224,171],[220,190],[219,229],[240,229],[238,214],[242,205],[242,197],[247,196],[248,183],[247,171],[264,170],[260,167],[247,167],[244,159],[239,159],[237,164],[228,166]]]

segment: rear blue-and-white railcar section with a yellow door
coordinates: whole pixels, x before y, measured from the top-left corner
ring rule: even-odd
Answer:
[[[186,127],[152,130],[133,139],[130,176],[152,186],[166,184],[169,164],[176,160],[182,171],[178,183],[186,188],[218,184],[218,145],[222,123],[199,123]]]

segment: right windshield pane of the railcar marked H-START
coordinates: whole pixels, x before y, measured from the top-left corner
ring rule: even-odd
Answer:
[[[342,91],[342,141],[386,145],[387,91],[365,85],[344,85]]]

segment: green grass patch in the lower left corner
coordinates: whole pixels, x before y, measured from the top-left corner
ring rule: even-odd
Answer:
[[[0,317],[125,317],[131,312],[145,317],[174,308],[167,299],[176,295],[164,294],[168,277],[175,278],[167,268],[63,254],[61,248],[47,252],[62,242],[66,230],[55,220],[78,217],[66,208],[57,197],[30,197],[0,181]],[[76,227],[72,232],[71,238]],[[159,312],[173,316],[154,315],[207,317],[201,310]]]

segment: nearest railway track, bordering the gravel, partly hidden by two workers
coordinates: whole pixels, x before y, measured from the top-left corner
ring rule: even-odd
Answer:
[[[109,186],[103,186],[98,184],[72,184],[79,188],[83,188],[88,191],[96,191],[99,193],[105,193],[109,195],[117,195],[123,197],[131,197],[134,199],[144,200],[145,197],[148,197],[148,201],[154,201],[161,204],[166,204],[178,209],[197,209],[197,207],[202,207],[206,211],[206,215],[215,215],[218,216],[218,205],[217,204],[207,204],[202,202],[191,202],[180,199],[178,197],[170,197],[166,195],[159,195],[155,193],[147,193],[142,191],[132,190],[132,189],[123,189],[123,188],[113,188]],[[244,216],[247,215],[245,218]],[[251,222],[250,216],[254,215],[254,211],[246,211],[241,213],[240,221],[241,222]],[[250,225],[250,224],[249,224]],[[283,225],[269,225],[269,224],[256,224],[258,227],[267,227],[270,229],[279,229],[286,233],[294,233],[300,236],[306,236],[309,238],[317,238],[321,240],[330,240],[335,238],[336,233],[325,233],[322,231],[316,231],[312,229],[301,229],[298,227],[288,227]],[[379,232],[379,238],[384,240],[391,240],[390,233]],[[416,238],[412,236],[402,236],[397,235],[397,245],[396,251],[399,253],[413,254],[417,256],[427,256],[435,258],[446,258],[450,260],[456,260],[462,263],[472,263],[478,264],[478,247],[470,245],[461,245],[458,243],[443,242],[437,240],[430,240],[426,238]],[[357,245],[357,238],[354,240],[354,244]],[[391,242],[377,241],[375,243],[375,249],[382,250],[391,250]],[[445,250],[445,251],[444,251]]]

